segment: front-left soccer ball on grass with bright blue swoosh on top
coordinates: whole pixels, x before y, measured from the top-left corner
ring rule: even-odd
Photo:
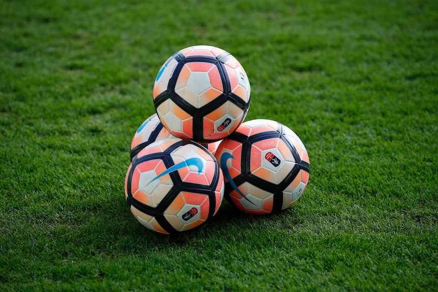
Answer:
[[[221,206],[225,182],[214,156],[189,140],[155,141],[132,160],[125,196],[146,228],[172,234],[199,228]]]

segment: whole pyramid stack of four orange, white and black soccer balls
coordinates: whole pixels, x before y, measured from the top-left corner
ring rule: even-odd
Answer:
[[[224,196],[249,214],[278,212],[300,198],[309,178],[306,148],[276,121],[243,122],[251,89],[230,53],[211,46],[176,52],[152,95],[157,113],[134,135],[125,181],[131,212],[146,228],[199,228]]]

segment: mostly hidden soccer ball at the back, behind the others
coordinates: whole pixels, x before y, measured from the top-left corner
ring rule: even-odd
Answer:
[[[132,138],[130,151],[131,161],[138,152],[150,143],[166,138],[176,137],[167,131],[157,114],[151,115],[140,125]],[[214,155],[221,141],[222,140],[213,143],[202,143],[201,145]]]

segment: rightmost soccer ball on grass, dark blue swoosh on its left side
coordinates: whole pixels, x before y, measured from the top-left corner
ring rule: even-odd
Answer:
[[[291,207],[309,179],[309,156],[287,126],[257,119],[242,123],[219,145],[225,196],[240,211],[268,214]]]

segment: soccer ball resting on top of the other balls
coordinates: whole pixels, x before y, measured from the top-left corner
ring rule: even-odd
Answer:
[[[226,138],[242,123],[251,88],[241,64],[212,46],[173,54],[153,85],[153,104],[168,131],[201,143]]]

